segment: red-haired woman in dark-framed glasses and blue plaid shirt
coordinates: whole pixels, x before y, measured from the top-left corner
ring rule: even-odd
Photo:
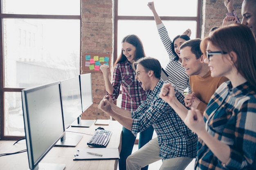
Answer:
[[[196,170],[256,169],[256,40],[248,26],[232,24],[201,42],[212,77],[225,76],[204,115],[194,108],[179,115],[198,135]],[[205,50],[204,50],[205,51]],[[172,101],[165,85],[162,98]],[[173,101],[172,101],[173,102]],[[177,112],[178,113],[178,112]]]

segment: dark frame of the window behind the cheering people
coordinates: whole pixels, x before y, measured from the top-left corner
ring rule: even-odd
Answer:
[[[179,16],[159,16],[162,21],[168,20],[185,20],[185,21],[195,21],[196,22],[196,38],[201,36],[201,15],[202,15],[202,2],[198,0],[197,4],[197,16],[195,17],[179,17]],[[113,61],[117,60],[117,32],[118,32],[118,20],[155,20],[154,16],[121,16],[118,15],[118,0],[114,0],[114,51],[113,51]]]

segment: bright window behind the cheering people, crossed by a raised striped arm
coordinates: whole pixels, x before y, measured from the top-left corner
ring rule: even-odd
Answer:
[[[121,40],[126,35],[137,35],[147,56],[155,57],[162,67],[169,62],[168,54],[162,44],[148,0],[115,0],[114,57],[121,53]],[[155,0],[155,9],[163,21],[171,40],[191,29],[191,38],[200,37],[200,0]]]

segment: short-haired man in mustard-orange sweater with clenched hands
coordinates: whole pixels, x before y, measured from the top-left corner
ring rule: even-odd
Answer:
[[[189,83],[192,89],[192,94],[187,93],[184,101],[186,107],[194,107],[200,110],[203,114],[204,110],[216,89],[223,82],[228,81],[226,77],[211,77],[211,71],[207,60],[200,50],[199,38],[184,42],[180,46],[180,58],[182,66],[189,75]],[[224,52],[207,52],[207,58],[212,55],[222,54]]]

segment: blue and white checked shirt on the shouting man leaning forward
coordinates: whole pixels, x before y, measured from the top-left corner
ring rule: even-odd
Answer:
[[[147,95],[136,111],[132,113],[132,133],[136,136],[153,125],[157,133],[160,146],[159,157],[169,159],[173,157],[191,157],[196,155],[197,135],[184,124],[171,106],[159,97],[164,81],[159,80],[153,91]],[[184,105],[184,97],[175,88],[177,99]]]

